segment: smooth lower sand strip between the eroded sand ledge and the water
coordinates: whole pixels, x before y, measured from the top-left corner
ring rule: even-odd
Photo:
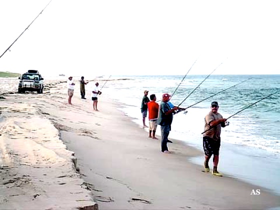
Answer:
[[[42,95],[7,95],[5,102],[33,104],[56,124],[67,149],[75,153],[81,178],[100,209],[263,209],[280,206],[279,197],[256,185],[231,177],[201,172],[189,158],[201,152],[172,139],[172,154],[160,152],[160,139],[147,137],[133,118],[117,108],[120,103],[98,99],[97,111],[74,90],[66,104],[64,84],[57,83]],[[36,98],[38,100],[36,100]],[[35,101],[34,101],[35,100]],[[224,187],[226,186],[226,187]],[[259,187],[258,187],[259,188]]]

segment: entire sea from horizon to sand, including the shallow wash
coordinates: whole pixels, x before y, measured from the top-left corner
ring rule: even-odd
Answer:
[[[218,101],[219,113],[227,118],[280,90],[280,75],[210,75],[199,85],[205,77],[206,75],[187,75],[173,94],[171,102],[178,105],[196,88],[180,105],[191,106],[187,109],[188,112],[184,114],[181,111],[173,116],[169,134],[169,137],[181,140],[201,151],[204,116],[210,110],[211,101]],[[108,78],[108,81],[104,81]],[[103,92],[100,95],[99,109],[102,107],[102,97],[113,98],[122,103],[119,110],[132,117],[132,120],[141,126],[140,105],[143,91],[149,90],[149,94],[154,93],[160,102],[161,95],[166,92],[173,93],[182,78],[183,75],[118,75],[94,78],[99,80],[99,88],[102,88]],[[66,80],[66,77],[45,77],[45,82],[48,79]],[[74,76],[74,81],[78,79],[79,76]],[[85,79],[93,78],[85,77]],[[223,91],[242,81],[244,82]],[[0,94],[16,92],[17,82],[17,78],[0,78]],[[94,82],[89,82],[85,86],[87,98],[93,85]],[[76,86],[78,88],[78,85]],[[195,104],[220,91],[223,92]],[[280,194],[279,101],[280,92],[229,118],[229,126],[222,128],[221,132],[219,161],[219,170],[222,173],[266,187],[278,194]],[[159,128],[156,134],[160,135]],[[158,146],[160,150],[160,143]],[[172,150],[172,145],[168,146]],[[203,156],[193,157],[191,161],[202,165]]]

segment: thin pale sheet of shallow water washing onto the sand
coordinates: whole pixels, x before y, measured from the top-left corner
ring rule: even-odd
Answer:
[[[124,112],[125,115],[129,116],[129,114],[125,112],[125,108],[129,106],[131,105],[124,104],[124,108],[119,108],[119,110]],[[132,116],[129,117],[131,117],[131,121],[133,123],[141,127],[142,121],[140,118],[135,118]],[[173,131],[176,129],[174,126]],[[148,132],[146,128],[145,131]],[[159,129],[156,130],[156,134],[160,139],[160,126]],[[189,161],[202,167],[204,160],[202,137],[196,138],[197,136],[189,135],[187,136],[188,139],[184,140],[185,137],[183,135],[180,133],[174,135],[172,130],[170,131],[169,136],[171,136],[170,139],[177,139],[186,145],[197,149],[200,152],[200,155],[191,157]],[[197,141],[200,144],[198,144]],[[209,163],[212,165],[212,159]],[[259,165],[264,166],[264,168],[259,167]],[[259,185],[260,187],[272,191],[275,195],[280,195],[280,185],[277,181],[277,177],[280,176],[280,170],[278,169],[279,167],[280,162],[278,162],[277,159],[274,159],[272,154],[268,154],[267,150],[259,150],[257,147],[248,147],[247,145],[231,144],[229,142],[223,141],[221,142],[218,170],[225,176],[232,176],[241,181]]]

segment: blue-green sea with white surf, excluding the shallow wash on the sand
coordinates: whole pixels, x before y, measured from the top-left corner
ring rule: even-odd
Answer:
[[[205,78],[206,75],[187,75],[171,98],[178,105]],[[154,93],[160,102],[162,93],[173,93],[183,76],[123,76],[130,80],[108,81],[108,89],[115,100],[124,103],[121,108],[127,115],[141,119],[140,104],[144,90]],[[111,77],[113,78],[113,77]],[[119,76],[121,78],[121,76]],[[247,80],[249,79],[249,80]],[[244,81],[247,80],[247,81]],[[280,90],[280,75],[211,75],[180,105],[187,107],[212,94],[238,84],[205,101],[188,108],[184,114],[174,115],[172,133],[179,139],[192,142],[201,138],[204,116],[210,110],[210,102],[219,102],[219,112],[224,118],[236,113],[253,102]],[[108,85],[108,83],[110,83]],[[272,157],[280,157],[280,92],[263,99],[234,115],[230,125],[222,130],[223,142],[246,145],[268,151]],[[138,122],[138,120],[135,120]],[[140,121],[141,122],[141,121]],[[178,138],[178,137],[177,137]]]

